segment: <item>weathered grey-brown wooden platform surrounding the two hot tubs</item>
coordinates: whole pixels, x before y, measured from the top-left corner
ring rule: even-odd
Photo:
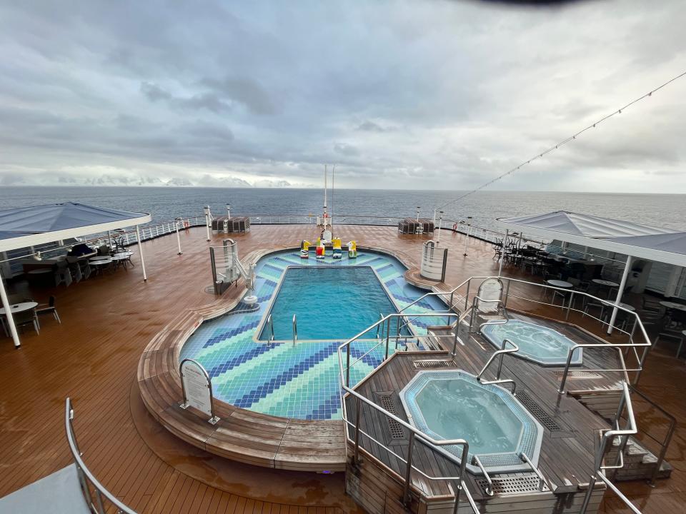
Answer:
[[[575,328],[563,326],[559,323],[544,322],[537,318],[515,315],[512,318],[522,319],[523,321],[533,321],[545,323],[550,328],[565,333],[575,341],[595,343],[595,339]],[[425,368],[414,365],[415,361],[447,360],[451,364],[432,368],[431,371],[447,371],[450,369],[460,369],[477,375],[481,371],[488,358],[492,356],[494,349],[490,348],[487,341],[482,336],[469,336],[467,327],[464,324],[460,327],[459,336],[465,342],[464,346],[458,346],[457,356],[453,359],[450,353],[397,353],[389,360],[379,366],[364,381],[359,383],[354,389],[365,398],[379,403],[379,395],[389,395],[395,406],[397,416],[409,422],[399,397],[399,391],[404,388],[409,381]],[[483,343],[483,344],[480,344]],[[488,349],[484,349],[488,348]],[[451,348],[446,348],[449,350]],[[613,351],[597,351],[595,355],[588,352],[584,356],[582,366],[575,367],[575,370],[592,369],[599,366],[614,368],[617,366],[618,358]],[[492,370],[496,365],[493,366]],[[556,495],[566,495],[569,493],[579,493],[588,483],[588,477],[592,473],[593,455],[597,441],[598,430],[610,428],[607,421],[599,415],[592,413],[578,400],[571,395],[558,395],[557,388],[560,386],[560,377],[555,371],[560,371],[560,367],[550,368],[538,366],[530,361],[515,358],[511,355],[504,356],[502,367],[502,378],[512,378],[517,384],[517,395],[522,398],[522,402],[527,397],[527,402],[532,402],[535,407],[527,405],[527,410],[532,413],[539,423],[544,427],[542,447],[538,467],[543,475],[549,480],[552,493],[537,494],[537,501],[549,500],[555,503]],[[492,373],[487,373],[487,379],[494,378]],[[582,381],[570,381],[570,390],[595,390],[597,386],[608,391],[612,391],[613,385],[619,379],[619,373],[614,378],[598,376],[595,379]],[[616,400],[616,398],[615,398]],[[350,419],[357,415],[356,400],[351,396],[346,397],[347,413]],[[392,433],[390,423],[387,418],[377,410],[363,404],[361,415],[361,427],[364,432],[372,438],[389,445],[395,453],[407,458],[407,445],[409,431],[401,428],[403,436]],[[350,438],[354,438],[354,430],[349,428]],[[404,463],[392,454],[388,453],[379,445],[371,442],[369,438],[362,437],[360,440],[361,448],[369,456],[373,456],[387,468],[403,475]],[[439,457],[434,450],[426,445],[417,444],[413,453],[414,463],[417,468],[428,475],[433,476],[457,476],[459,470],[457,466],[448,463],[446,459]],[[363,463],[364,465],[364,463]],[[513,473],[501,473],[499,475],[512,476]],[[493,474],[494,478],[497,474]],[[414,473],[412,475],[413,485],[417,492],[421,492],[427,497],[440,497],[450,495],[448,484],[440,481],[427,480],[422,475]],[[474,495],[474,500],[485,501],[489,497],[482,493],[481,486],[477,483],[474,475],[467,473],[467,484],[469,490]],[[580,488],[581,486],[581,488]],[[545,498],[545,499],[544,499]],[[484,505],[488,505],[485,503]]]

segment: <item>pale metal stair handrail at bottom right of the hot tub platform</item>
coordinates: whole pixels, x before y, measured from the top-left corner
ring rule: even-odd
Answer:
[[[626,410],[626,425],[625,428],[620,428],[620,423],[622,416]],[[613,422],[614,428],[612,430],[606,430],[600,438],[600,445],[595,452],[595,460],[593,465],[593,473],[590,476],[588,483],[588,488],[586,490],[586,495],[584,496],[584,501],[581,505],[580,514],[585,514],[588,505],[591,500],[591,495],[593,493],[593,488],[595,483],[600,478],[608,488],[610,488],[625,505],[627,505],[630,510],[635,514],[641,514],[641,511],[627,498],[622,491],[620,491],[615,484],[612,483],[610,478],[605,475],[605,470],[617,469],[616,465],[605,465],[605,451],[607,450],[607,445],[612,442],[616,437],[626,439],[631,435],[635,435],[638,432],[636,419],[634,415],[634,409],[631,401],[631,392],[629,384],[626,381],[622,382],[622,396],[620,397],[620,404],[617,407],[617,413],[615,414],[615,420]],[[620,448],[621,453],[621,448]]]

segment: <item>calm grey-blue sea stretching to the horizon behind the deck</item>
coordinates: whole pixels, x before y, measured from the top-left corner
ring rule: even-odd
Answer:
[[[360,216],[421,216],[431,218],[439,207],[460,196],[459,191],[397,191],[341,189],[329,193],[329,213]],[[133,188],[133,187],[2,187],[0,209],[75,201],[91,205],[144,211],[154,220],[202,216],[203,206],[222,214],[231,203],[232,214],[275,216],[321,213],[321,189],[252,188]],[[333,203],[333,207],[332,207]],[[444,208],[444,218],[474,218],[473,224],[499,228],[494,218],[550,211],[575,211],[646,225],[686,230],[686,195],[542,193],[479,191]]]

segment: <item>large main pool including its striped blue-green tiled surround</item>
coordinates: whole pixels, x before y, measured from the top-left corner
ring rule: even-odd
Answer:
[[[298,315],[299,341],[296,345],[292,343],[292,313],[289,312],[291,309],[288,302],[284,303],[283,311],[287,316],[287,323],[282,326],[281,336],[276,333],[279,323],[274,326],[275,336],[277,339],[282,337],[282,341],[267,343],[259,340],[270,306],[272,312],[276,312],[274,307],[277,306],[279,299],[274,296],[279,291],[282,278],[287,278],[294,272],[294,277],[304,276],[307,279],[304,271],[300,271],[302,266],[308,266],[309,269],[305,271],[313,273],[329,273],[332,268],[338,268],[334,272],[345,272],[363,267],[362,269],[366,269],[364,277],[358,271],[353,272],[355,281],[371,281],[373,276],[376,281],[373,296],[379,303],[369,306],[371,321],[367,323],[366,318],[360,319],[360,323],[366,323],[360,330],[379,319],[379,312],[376,310],[380,303],[383,303],[386,309],[397,311],[409,306],[426,293],[407,283],[403,278],[407,268],[396,258],[384,253],[359,251],[356,259],[349,259],[344,255],[342,259],[335,261],[330,255],[323,260],[316,260],[314,257],[301,260],[297,250],[269,254],[261,258],[256,266],[254,293],[259,309],[255,312],[246,312],[247,306],[239,303],[227,315],[202,323],[181,349],[179,360],[193,358],[207,370],[212,378],[215,398],[242,408],[284,418],[341,418],[337,348],[349,336],[339,331],[342,328],[348,331],[353,328],[344,326],[344,321],[332,323],[331,316],[337,316],[337,319],[361,316],[357,312],[359,300],[337,302],[333,305],[318,302],[317,295],[309,293],[312,293],[313,282],[319,281],[317,277],[322,275],[313,275],[307,280],[309,288],[304,288],[306,298],[303,302],[304,306],[309,306],[309,312],[306,315]],[[370,271],[372,276],[369,275]],[[347,278],[348,282],[353,280]],[[335,277],[332,280],[337,281]],[[311,300],[312,303],[305,300]],[[324,316],[322,313],[325,307],[330,307],[334,312],[329,311]],[[406,312],[414,314],[446,310],[447,306],[442,301],[435,296],[429,296],[409,307]],[[309,316],[312,316],[311,326],[308,326]],[[417,318],[410,323],[409,328],[415,335],[424,334],[427,332],[427,326],[442,324],[444,320],[441,316]],[[357,330],[357,326],[354,330]],[[339,335],[334,336],[336,333]],[[353,332],[352,336],[356,333],[357,331]],[[372,337],[374,335],[370,334],[370,338]],[[303,341],[306,338],[316,341]],[[351,368],[351,383],[357,383],[382,363],[384,346],[370,351],[376,344],[375,339],[356,341],[352,344],[351,361],[357,361],[358,358],[362,360]],[[419,341],[419,348],[422,348],[421,344]],[[403,347],[399,349],[402,350]],[[391,345],[390,353],[394,351],[394,345]],[[365,356],[367,352],[369,354]]]

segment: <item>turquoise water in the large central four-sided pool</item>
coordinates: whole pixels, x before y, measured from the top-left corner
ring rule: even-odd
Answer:
[[[291,340],[293,315],[299,340],[352,338],[397,312],[369,266],[288,268],[272,305],[274,339]],[[265,326],[259,339],[266,341]],[[372,334],[372,337],[374,334]]]

